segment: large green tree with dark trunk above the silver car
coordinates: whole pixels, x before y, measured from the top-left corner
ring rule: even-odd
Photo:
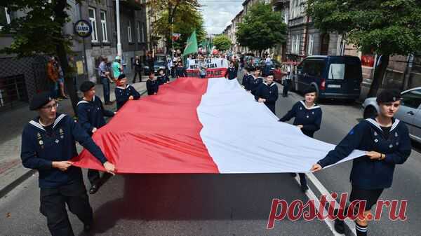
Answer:
[[[368,97],[375,97],[390,55],[421,49],[421,1],[309,0],[307,13],[322,32],[338,32],[362,52],[376,53]]]

